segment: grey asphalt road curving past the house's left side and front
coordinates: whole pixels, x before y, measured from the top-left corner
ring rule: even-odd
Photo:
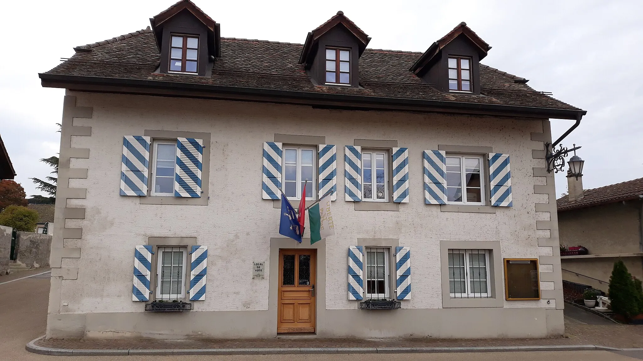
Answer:
[[[0,361],[354,361],[358,355],[236,355],[236,356],[47,356],[25,351],[24,345],[45,333],[49,298],[48,274],[32,276],[45,271],[28,270],[0,277]],[[17,279],[17,280],[16,280]],[[7,282],[9,281],[9,282]],[[365,357],[365,356],[362,356]],[[635,358],[607,351],[541,351],[500,353],[407,353],[398,355],[366,355],[370,361],[634,361]]]

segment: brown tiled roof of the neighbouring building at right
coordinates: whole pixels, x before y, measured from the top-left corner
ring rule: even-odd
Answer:
[[[627,182],[610,184],[601,188],[586,189],[583,191],[583,198],[570,202],[568,196],[556,200],[558,211],[569,209],[597,206],[621,200],[637,199],[643,195],[643,178],[628,180]]]

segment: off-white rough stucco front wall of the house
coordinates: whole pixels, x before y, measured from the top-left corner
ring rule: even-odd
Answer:
[[[444,317],[459,314],[462,320],[449,322],[464,324],[472,315],[493,313],[531,321],[480,333],[475,332],[482,329],[477,321],[472,322],[473,331],[463,326],[461,333],[451,326],[427,324],[426,335],[545,337],[562,333],[559,258],[545,242],[549,239],[557,243],[557,228],[550,225],[556,220],[550,215],[551,209],[555,215],[555,199],[549,199],[547,194],[547,189],[554,187],[553,177],[534,169],[545,167],[539,152],[544,152],[543,141],[550,137],[547,119],[326,110],[271,103],[87,92],[68,92],[68,95],[77,97],[76,107],[92,108],[91,118],[73,118],[73,124],[64,125],[91,127],[91,135],[72,135],[70,143],[71,148],[89,149],[89,158],[71,157],[69,161],[72,170],[87,169],[86,178],[70,177],[68,184],[69,189],[86,189],[86,197],[66,201],[66,207],[86,211],[84,219],[67,218],[62,225],[57,218],[57,227],[82,229],[82,236],[64,238],[65,233],[59,228],[55,233],[56,240],[62,241],[59,247],[80,249],[80,253],[78,257],[62,256],[61,270],[54,272],[48,321],[50,337],[269,337],[276,334],[276,325],[275,330],[271,330],[269,322],[247,333],[235,326],[239,331],[226,335],[217,331],[217,327],[221,328],[217,324],[202,327],[190,321],[221,312],[232,321],[245,322],[244,312],[274,311],[269,305],[270,279],[276,277],[271,273],[276,267],[270,265],[270,239],[283,236],[278,234],[279,209],[273,207],[272,200],[262,199],[261,182],[262,144],[273,141],[275,134],[323,136],[326,144],[337,145],[338,197],[332,202],[335,235],[322,240],[320,243],[324,244],[319,246],[325,254],[320,258],[325,262],[318,264],[318,275],[323,273],[325,277],[325,297],[323,303],[318,300],[318,317],[320,309],[329,315],[340,311],[369,312],[358,310],[359,301],[349,301],[347,297],[347,250],[357,245],[358,238],[397,238],[399,245],[412,251],[412,297],[402,301],[401,310],[379,311],[381,313],[371,314],[370,319],[381,315],[383,320],[395,322],[397,315],[415,310],[411,317],[421,312],[438,318],[442,317],[440,312],[444,312]],[[210,167],[203,170],[209,173],[208,194],[203,195],[209,197],[207,206],[141,204],[139,197],[119,195],[123,136],[143,135],[145,130],[211,134],[210,144],[204,145],[210,148]],[[344,200],[343,146],[353,145],[355,139],[395,140],[399,146],[408,147],[410,202],[401,204],[399,211],[358,211],[354,202]],[[513,206],[496,207],[495,213],[469,213],[446,212],[441,211],[439,205],[424,204],[422,152],[437,150],[440,145],[492,147],[493,152],[509,154]],[[548,202],[554,203],[553,208],[547,207]],[[134,247],[147,244],[150,236],[196,237],[197,244],[208,246],[205,300],[195,301],[190,315],[174,317],[174,322],[185,324],[173,326],[165,333],[154,331],[153,327],[148,330],[145,325],[156,322],[155,317],[167,320],[168,315],[144,312],[143,302],[132,301]],[[440,241],[449,240],[500,242],[501,258],[539,258],[541,274],[550,273],[549,277],[541,277],[542,299],[503,301],[502,308],[493,310],[443,309],[441,283],[446,270],[440,267]],[[296,242],[292,242],[294,247]],[[56,256],[55,252],[52,254]],[[253,261],[266,262],[264,279],[252,277]],[[55,267],[55,263],[52,265]],[[68,269],[77,269],[76,279],[63,276]],[[504,299],[504,288],[498,292]],[[514,308],[520,310],[512,311]],[[98,316],[93,315],[102,315],[102,318],[96,321]],[[235,319],[235,315],[239,318]],[[140,317],[142,321],[109,321],[119,317],[130,320]],[[375,325],[365,327],[367,331],[341,333],[331,331],[332,325],[324,326],[321,322],[318,334],[419,336],[399,331],[404,326],[389,330],[384,322],[379,328]],[[194,330],[190,331],[190,327]],[[422,325],[412,328],[422,328]]]

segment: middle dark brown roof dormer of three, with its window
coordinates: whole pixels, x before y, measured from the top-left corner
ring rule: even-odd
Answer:
[[[313,84],[359,85],[359,57],[370,37],[343,12],[331,17],[308,33],[299,64],[303,64]]]

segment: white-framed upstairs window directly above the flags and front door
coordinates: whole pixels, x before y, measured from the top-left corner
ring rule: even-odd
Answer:
[[[284,194],[289,199],[300,200],[302,198],[303,185],[306,185],[306,199],[315,200],[315,159],[317,150],[315,148],[302,148],[284,146],[284,164],[282,184]],[[306,182],[308,180],[308,182]]]

